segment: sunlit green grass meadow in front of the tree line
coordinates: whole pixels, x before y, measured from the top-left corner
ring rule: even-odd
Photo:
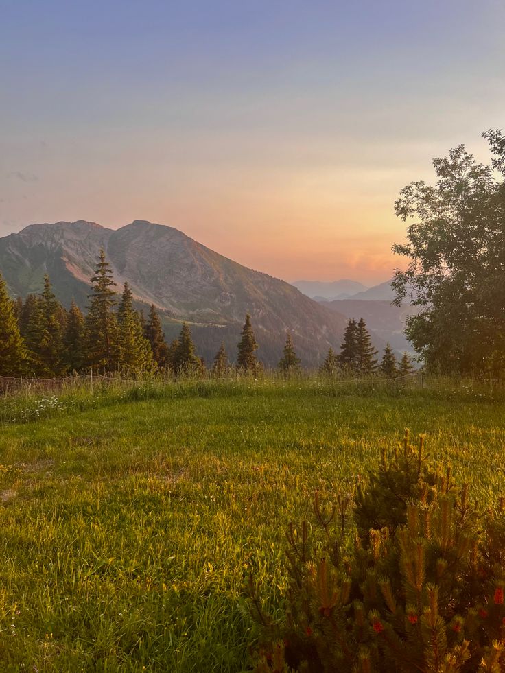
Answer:
[[[0,400],[0,670],[239,672],[244,583],[272,611],[287,523],[404,427],[489,503],[499,392],[202,381]]]

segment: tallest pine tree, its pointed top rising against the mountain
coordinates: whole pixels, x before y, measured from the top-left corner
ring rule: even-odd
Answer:
[[[93,293],[86,315],[87,364],[96,369],[113,370],[117,366],[117,320],[113,307],[117,304],[116,283],[105,259],[103,249],[95,276],[91,279]]]

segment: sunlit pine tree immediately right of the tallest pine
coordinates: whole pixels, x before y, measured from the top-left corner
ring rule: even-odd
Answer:
[[[143,336],[139,314],[133,308],[132,291],[128,281],[124,283],[124,290],[117,311],[117,327],[117,362],[119,367],[124,371],[137,374],[152,370],[151,346]]]

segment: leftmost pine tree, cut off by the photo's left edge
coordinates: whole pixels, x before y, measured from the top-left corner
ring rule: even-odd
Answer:
[[[0,375],[20,376],[26,363],[26,349],[7,294],[7,284],[0,274]]]

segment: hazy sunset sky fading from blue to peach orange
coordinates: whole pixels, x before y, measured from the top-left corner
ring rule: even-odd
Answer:
[[[394,202],[505,128],[502,0],[0,0],[0,236],[150,220],[385,281]]]

